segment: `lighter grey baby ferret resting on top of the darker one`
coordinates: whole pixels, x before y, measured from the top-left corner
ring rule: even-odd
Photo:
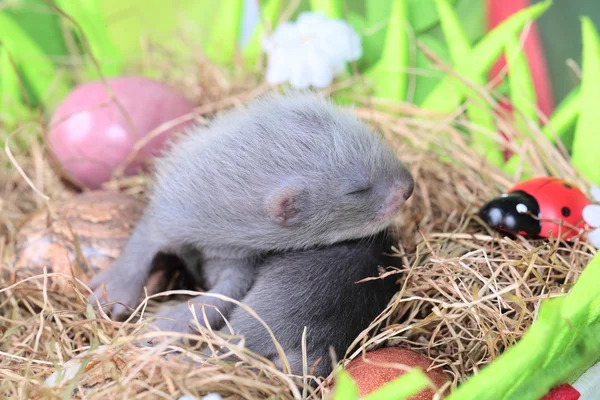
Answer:
[[[271,94],[192,129],[158,162],[155,178],[121,256],[89,284],[99,299],[105,286],[117,318],[139,303],[160,252],[192,260],[210,293],[240,300],[265,253],[375,234],[414,186],[381,135],[311,93]],[[198,300],[214,306],[206,308],[213,328],[222,320],[216,309],[227,315],[233,307]],[[185,303],[162,313],[189,316]],[[170,321],[158,329],[188,329]]]

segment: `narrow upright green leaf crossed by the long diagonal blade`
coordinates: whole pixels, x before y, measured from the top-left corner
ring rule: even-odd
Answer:
[[[472,52],[471,43],[450,2],[448,0],[435,0],[435,5],[440,16],[440,24],[452,62],[454,65],[460,65],[470,57]],[[476,85],[485,85],[483,74],[473,74],[470,78]],[[454,82],[452,89],[446,93],[446,96],[449,98],[454,97],[454,99],[448,99],[448,101],[454,101],[457,106],[464,98],[469,101],[466,113],[471,124],[475,126],[475,129],[471,130],[471,146],[479,154],[485,154],[491,163],[502,165],[504,158],[498,142],[490,136],[497,131],[491,105],[484,102],[475,90],[457,81]]]

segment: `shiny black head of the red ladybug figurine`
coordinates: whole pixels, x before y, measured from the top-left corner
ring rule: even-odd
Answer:
[[[489,226],[499,231],[537,236],[542,226],[538,217],[540,206],[535,198],[516,190],[487,202],[479,216]]]

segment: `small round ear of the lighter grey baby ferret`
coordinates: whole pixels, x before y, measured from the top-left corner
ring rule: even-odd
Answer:
[[[306,186],[297,180],[289,181],[269,195],[267,214],[278,225],[291,225],[300,219],[305,202]]]

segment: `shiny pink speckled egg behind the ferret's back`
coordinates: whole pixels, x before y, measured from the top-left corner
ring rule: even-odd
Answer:
[[[152,79],[119,77],[107,83],[126,115],[97,81],[75,88],[50,121],[48,147],[61,173],[80,187],[100,188],[131,155],[138,140],[193,109],[181,93]],[[139,172],[149,158],[160,154],[171,135],[189,124],[190,119],[179,122],[149,140],[123,170],[124,175]]]

